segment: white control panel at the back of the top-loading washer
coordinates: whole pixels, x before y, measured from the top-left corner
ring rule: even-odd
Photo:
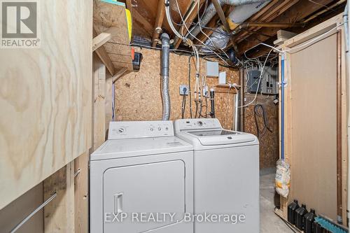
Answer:
[[[176,132],[190,129],[222,129],[216,118],[181,119],[174,122]]]

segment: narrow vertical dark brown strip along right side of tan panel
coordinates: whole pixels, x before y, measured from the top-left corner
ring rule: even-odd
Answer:
[[[337,33],[337,222],[342,224],[342,34]]]

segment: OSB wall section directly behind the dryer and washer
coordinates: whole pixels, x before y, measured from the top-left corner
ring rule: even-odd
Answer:
[[[116,120],[161,120],[162,97],[160,93],[160,51],[136,48],[141,52],[144,59],[141,62],[139,72],[129,73],[116,82]],[[201,60],[202,64],[202,60]],[[203,62],[205,73],[205,61]],[[202,68],[201,68],[202,69]],[[238,83],[238,72],[225,67],[220,71],[227,72],[229,83]],[[170,55],[170,80],[169,92],[171,99],[171,120],[181,118],[182,97],[179,95],[179,86],[188,85],[188,56]],[[209,89],[218,84],[218,78],[207,78]],[[195,89],[195,65],[191,59],[191,88]],[[232,128],[233,94],[228,94],[228,89],[221,88],[217,92],[216,117],[223,127]],[[210,101],[208,99],[208,112]],[[193,101],[193,115],[195,104]],[[185,118],[190,118],[189,98],[186,99]]]

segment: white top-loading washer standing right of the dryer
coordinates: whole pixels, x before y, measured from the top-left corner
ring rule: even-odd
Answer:
[[[195,215],[216,216],[197,219],[195,233],[258,233],[256,136],[225,130],[217,119],[176,120],[174,126],[175,135],[194,148]]]

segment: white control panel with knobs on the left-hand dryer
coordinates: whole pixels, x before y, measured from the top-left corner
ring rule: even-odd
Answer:
[[[109,122],[109,139],[138,139],[174,136],[173,123],[166,121]]]

